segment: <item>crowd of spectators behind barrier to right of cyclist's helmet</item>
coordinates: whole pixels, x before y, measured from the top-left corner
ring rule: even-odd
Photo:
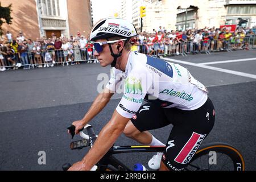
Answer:
[[[159,27],[151,33],[141,32],[131,40],[132,50],[149,55],[179,55],[182,53],[199,53],[201,51],[222,51],[224,49],[249,49],[249,39],[255,39],[255,27],[228,28],[205,27],[187,28],[184,31]],[[255,41],[255,40],[254,40]]]

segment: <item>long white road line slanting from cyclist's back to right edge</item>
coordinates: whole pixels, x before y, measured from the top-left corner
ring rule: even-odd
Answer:
[[[181,64],[192,65],[193,67],[212,69],[214,71],[230,73],[230,74],[233,74],[233,75],[238,75],[238,76],[243,76],[243,77],[249,77],[249,78],[256,79],[256,75],[253,75],[253,74],[250,74],[250,73],[243,73],[243,72],[233,71],[233,70],[229,70],[229,69],[222,69],[222,68],[217,68],[217,67],[211,67],[211,66],[208,66],[208,65],[203,65],[203,64],[198,64],[198,63],[189,63],[187,61],[180,61],[180,60],[170,59],[170,58],[164,58],[164,60],[171,61],[171,62],[176,62],[176,63],[181,63]]]

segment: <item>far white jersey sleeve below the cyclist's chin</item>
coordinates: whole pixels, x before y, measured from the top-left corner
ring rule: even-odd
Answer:
[[[111,90],[113,93],[115,93],[115,91],[118,88],[118,84],[119,84],[119,82],[121,82],[121,80],[122,80],[122,72],[119,71],[118,69],[111,68],[110,69],[110,80],[109,80],[108,84],[106,85],[106,88]]]

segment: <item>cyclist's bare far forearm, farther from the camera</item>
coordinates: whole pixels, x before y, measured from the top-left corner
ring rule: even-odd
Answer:
[[[100,93],[93,101],[92,106],[90,106],[90,109],[85,114],[84,118],[82,118],[82,121],[84,125],[88,123],[91,119],[93,119],[104,107],[108,104],[110,98],[113,94],[109,93]]]

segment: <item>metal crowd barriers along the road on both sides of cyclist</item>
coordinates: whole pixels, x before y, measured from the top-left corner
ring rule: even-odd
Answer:
[[[154,49],[154,47],[158,49]],[[148,46],[139,45],[138,52],[145,53],[147,55],[160,57],[160,56],[188,56],[196,53],[206,53],[210,55],[212,52],[227,51],[232,52],[240,49],[251,50],[256,48],[256,36],[246,36],[243,41],[240,39],[235,40],[208,40],[201,41],[200,43],[189,42],[179,42],[171,45],[164,46],[152,46],[149,49]],[[94,51],[94,50],[93,50]],[[84,49],[69,49],[67,51],[63,49],[54,51],[42,51],[40,55],[36,52],[25,52],[23,54],[16,53],[12,57],[15,66],[12,65],[11,61],[5,59],[1,60],[4,66],[0,66],[2,69],[17,69],[23,67],[24,69],[31,69],[39,67],[52,67],[53,65],[73,65],[80,63],[97,63],[96,59],[93,57],[93,51],[88,51],[88,48]],[[51,61],[46,60],[46,54],[51,55]]]

